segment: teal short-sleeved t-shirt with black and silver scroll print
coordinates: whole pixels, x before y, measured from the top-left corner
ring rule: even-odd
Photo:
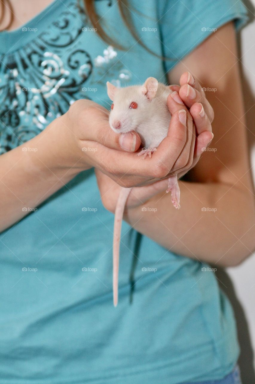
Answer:
[[[55,0],[23,27],[0,33],[1,154],[76,99],[108,106],[106,81],[167,81],[167,71],[213,28],[247,20],[236,0],[130,3],[142,41],[172,61],[132,38],[116,0],[95,6],[126,51],[102,41],[75,0]],[[220,379],[233,369],[235,320],[214,273],[127,223],[114,308],[114,217],[101,204],[93,170],[37,208],[0,234],[1,384],[177,384]]]

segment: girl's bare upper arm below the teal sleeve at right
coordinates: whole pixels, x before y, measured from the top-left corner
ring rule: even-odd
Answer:
[[[190,171],[192,179],[235,184],[252,190],[237,55],[234,25],[230,22],[178,63],[168,73],[168,79],[170,84],[178,84],[181,74],[189,71],[206,88],[206,98],[214,109],[214,138],[210,145],[214,151],[202,154]]]

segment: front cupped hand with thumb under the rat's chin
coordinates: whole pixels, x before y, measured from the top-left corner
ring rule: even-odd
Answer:
[[[176,101],[169,96],[167,105],[172,114],[168,135],[151,159],[142,159],[121,148],[128,148],[126,141],[129,150],[136,151],[141,144],[137,133],[115,134],[108,124],[109,112],[92,101],[79,100],[72,104],[62,116],[62,134],[67,137],[69,151],[75,152],[76,167],[80,170],[96,167],[124,187],[151,184],[168,174],[187,172],[193,164],[195,125],[180,99]],[[123,136],[125,140],[121,141]],[[206,147],[211,132],[203,132],[202,136],[202,146]]]

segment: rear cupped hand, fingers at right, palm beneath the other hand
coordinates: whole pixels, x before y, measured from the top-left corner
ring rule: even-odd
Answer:
[[[178,171],[179,178],[195,166],[205,148],[209,146],[213,134],[208,132],[212,132],[211,122],[214,118],[213,109],[207,101],[204,91],[198,81],[195,81],[190,73],[185,72],[181,75],[180,84],[181,86],[170,86],[170,89],[174,91],[171,97],[180,105],[183,105],[181,104],[182,102],[186,104],[189,108],[187,118],[192,119],[193,124],[192,138],[189,137],[189,139],[191,139],[190,145],[187,145],[186,148],[184,146],[182,152],[182,154],[184,154],[184,152],[186,152],[186,154],[189,153],[189,161],[183,168],[178,168],[180,164],[180,159],[178,159],[175,163],[175,167],[172,169],[172,171]],[[179,96],[181,96],[181,98]],[[170,111],[172,111],[172,108],[174,107],[172,99],[168,98],[168,108]],[[99,170],[95,170],[95,173],[102,203],[106,209],[110,210],[110,212],[114,212],[120,187]],[[167,184],[167,179],[163,179],[148,186],[133,188],[127,199],[126,207],[132,208],[144,204],[154,195],[166,190]]]

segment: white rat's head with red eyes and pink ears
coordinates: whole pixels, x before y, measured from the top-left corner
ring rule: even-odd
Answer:
[[[150,102],[155,97],[158,81],[149,77],[141,86],[117,88],[106,83],[107,94],[113,104],[109,116],[111,129],[117,133],[136,131],[136,128],[148,117]]]

